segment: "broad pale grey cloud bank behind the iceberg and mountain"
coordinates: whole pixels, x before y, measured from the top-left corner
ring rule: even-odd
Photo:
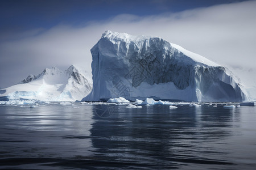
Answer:
[[[26,31],[19,39],[0,42],[0,86],[39,74],[45,67],[75,64],[90,70],[90,48],[108,29],[162,37],[234,70],[256,70],[255,6],[256,1],[247,1],[143,17],[122,14],[76,27],[59,24]]]

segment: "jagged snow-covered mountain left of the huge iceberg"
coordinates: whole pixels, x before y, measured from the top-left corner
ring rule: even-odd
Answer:
[[[37,76],[28,75],[18,84],[1,90],[0,97],[7,100],[75,101],[81,100],[91,90],[91,76],[72,65],[65,71],[52,67]]]

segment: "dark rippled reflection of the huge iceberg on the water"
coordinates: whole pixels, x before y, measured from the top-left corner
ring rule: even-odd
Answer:
[[[100,118],[94,110],[95,121],[90,129],[92,146],[102,158],[146,166],[168,164],[168,167],[177,167],[189,162],[229,164],[220,160],[218,155],[227,153],[216,150],[219,146],[215,143],[232,135],[228,129],[233,121],[232,111],[222,108],[216,111],[216,108],[204,106],[184,106],[175,110],[168,106],[139,110],[126,109],[125,105],[116,107],[115,116],[110,118]],[[216,151],[213,153],[213,150]]]

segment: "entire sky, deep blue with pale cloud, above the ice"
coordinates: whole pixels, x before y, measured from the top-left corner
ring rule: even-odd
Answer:
[[[254,0],[2,0],[0,88],[46,67],[90,72],[90,49],[111,30],[162,37],[228,67],[255,90],[255,8]]]

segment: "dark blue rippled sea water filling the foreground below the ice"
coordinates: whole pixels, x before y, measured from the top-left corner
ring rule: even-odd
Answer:
[[[256,167],[256,107],[77,105],[0,106],[0,169]]]

